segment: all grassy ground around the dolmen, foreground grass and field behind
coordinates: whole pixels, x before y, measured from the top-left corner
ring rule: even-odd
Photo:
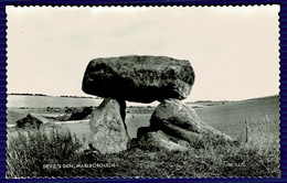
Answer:
[[[44,127],[40,131],[22,130],[19,133],[19,130],[8,129],[7,176],[280,176],[278,96],[200,103],[200,106],[194,109],[205,123],[240,143],[214,147],[206,141],[203,149],[191,149],[187,153],[134,148],[119,154],[100,155],[83,151],[87,149],[86,140],[91,134],[88,120],[53,121],[47,122],[53,128]],[[13,110],[10,119],[21,116]],[[139,127],[149,126],[150,116],[127,114],[131,138],[136,137]],[[248,123],[247,141],[245,121]],[[71,162],[74,165],[117,165],[110,169],[63,168]],[[60,164],[62,168],[43,169],[43,164]]]

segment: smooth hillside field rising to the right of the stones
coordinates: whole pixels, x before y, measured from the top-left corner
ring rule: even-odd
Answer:
[[[195,110],[204,122],[232,137],[237,137],[245,130],[245,120],[251,128],[264,127],[265,125],[278,126],[280,121],[279,104],[279,96],[276,95],[196,108]]]

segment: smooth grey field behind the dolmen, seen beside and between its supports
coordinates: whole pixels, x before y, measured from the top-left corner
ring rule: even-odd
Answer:
[[[198,104],[196,104],[198,105]],[[275,126],[276,128],[266,129],[266,132],[275,132],[279,128],[279,96],[270,96],[264,98],[255,98],[232,103],[200,103],[200,108],[194,108],[200,118],[213,128],[227,133],[233,138],[237,138],[245,132],[245,120],[248,122],[249,129],[261,126]],[[29,109],[17,111],[10,109],[8,112],[8,123],[15,123],[15,120],[22,118]],[[38,111],[41,114],[43,110]],[[59,114],[44,114],[44,116],[53,116]],[[151,114],[127,114],[126,123],[128,133],[131,138],[137,136],[139,127],[149,126]],[[89,136],[89,127],[87,121],[79,122],[61,122],[63,128],[71,129],[82,138],[83,134]]]

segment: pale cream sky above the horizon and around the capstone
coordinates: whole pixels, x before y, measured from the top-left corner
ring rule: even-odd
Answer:
[[[279,6],[169,8],[7,7],[8,93],[88,96],[96,57],[189,60],[190,100],[279,94]]]

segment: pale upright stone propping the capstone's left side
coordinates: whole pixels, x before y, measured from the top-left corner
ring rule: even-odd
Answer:
[[[125,101],[106,98],[92,112],[89,127],[93,132],[89,147],[102,154],[127,150],[129,137],[125,123]]]

